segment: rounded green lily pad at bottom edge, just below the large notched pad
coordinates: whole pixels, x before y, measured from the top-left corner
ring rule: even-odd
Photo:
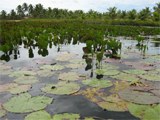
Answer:
[[[53,120],[49,113],[44,110],[33,112],[25,117],[25,120]]]

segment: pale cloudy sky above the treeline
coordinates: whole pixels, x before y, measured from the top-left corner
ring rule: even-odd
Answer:
[[[93,9],[99,12],[105,12],[109,7],[113,6],[121,10],[141,10],[145,7],[152,9],[160,0],[0,0],[0,11],[6,10],[9,12],[24,2],[32,5],[41,3],[45,8],[83,10],[85,12]]]

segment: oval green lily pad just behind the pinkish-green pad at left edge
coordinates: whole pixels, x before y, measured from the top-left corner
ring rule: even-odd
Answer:
[[[33,84],[38,82],[38,79],[34,76],[20,76],[14,82],[18,84]]]

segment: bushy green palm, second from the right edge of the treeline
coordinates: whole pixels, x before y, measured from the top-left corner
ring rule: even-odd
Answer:
[[[149,7],[146,7],[145,9],[142,9],[139,12],[139,19],[140,20],[146,20],[147,18],[149,18],[151,16],[151,11],[149,9]]]

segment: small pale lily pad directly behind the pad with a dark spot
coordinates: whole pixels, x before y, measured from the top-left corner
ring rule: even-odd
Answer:
[[[76,81],[79,79],[79,75],[75,72],[62,73],[59,75],[58,79],[64,81]]]

